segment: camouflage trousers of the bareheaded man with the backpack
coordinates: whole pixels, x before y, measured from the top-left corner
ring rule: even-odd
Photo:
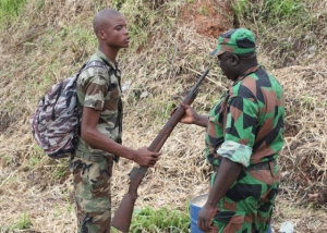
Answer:
[[[111,223],[112,157],[94,162],[72,161],[78,233],[109,233]]]

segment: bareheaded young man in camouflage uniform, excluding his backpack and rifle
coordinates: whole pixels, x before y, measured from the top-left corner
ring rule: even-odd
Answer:
[[[121,72],[116,57],[129,47],[123,15],[105,9],[94,19],[98,50],[77,79],[77,97],[83,109],[81,136],[71,160],[75,188],[77,231],[109,233],[111,220],[110,177],[113,160],[124,157],[140,165],[153,167],[158,152],[146,147],[131,149],[121,145]],[[81,112],[81,113],[82,113]]]

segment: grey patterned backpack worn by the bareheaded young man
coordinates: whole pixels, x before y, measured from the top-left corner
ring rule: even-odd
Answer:
[[[87,61],[76,74],[55,84],[33,113],[33,136],[50,158],[65,158],[75,150],[81,123],[76,81],[78,75],[90,66],[108,71],[101,61]]]

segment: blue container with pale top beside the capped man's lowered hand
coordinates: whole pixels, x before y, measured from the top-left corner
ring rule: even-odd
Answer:
[[[205,205],[208,199],[208,194],[202,194],[190,200],[190,219],[191,219],[191,233],[204,233],[197,228],[197,217],[198,211]],[[271,225],[269,225],[268,231],[265,233],[272,233]]]

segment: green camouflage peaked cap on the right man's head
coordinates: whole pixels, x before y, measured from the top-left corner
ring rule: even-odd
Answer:
[[[231,29],[218,37],[217,48],[209,53],[217,57],[223,52],[247,54],[255,52],[254,35],[244,28]]]

